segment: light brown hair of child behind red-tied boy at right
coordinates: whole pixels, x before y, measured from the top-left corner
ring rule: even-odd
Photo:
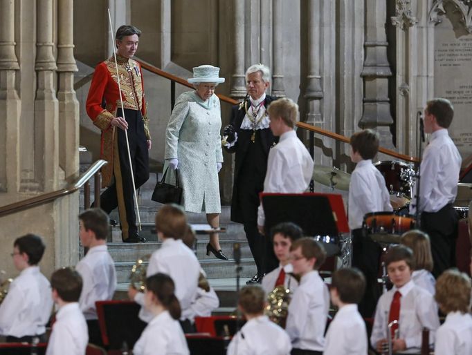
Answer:
[[[433,256],[428,234],[419,229],[412,229],[401,236],[401,244],[412,249],[415,258],[415,270],[433,270]]]

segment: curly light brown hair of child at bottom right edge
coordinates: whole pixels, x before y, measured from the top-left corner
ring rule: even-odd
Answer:
[[[469,312],[471,280],[457,269],[444,271],[436,280],[435,300],[446,314],[452,311]]]

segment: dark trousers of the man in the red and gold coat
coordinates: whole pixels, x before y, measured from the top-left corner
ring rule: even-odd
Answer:
[[[116,115],[122,116],[121,109],[118,109]],[[125,119],[128,122],[127,133],[134,184],[136,189],[139,189],[149,179],[149,152],[143,117],[140,111],[125,108]],[[100,207],[107,213],[118,207],[122,238],[127,239],[128,236],[136,236],[138,228],[125,131],[120,128],[116,128],[114,150],[114,182],[100,195]]]

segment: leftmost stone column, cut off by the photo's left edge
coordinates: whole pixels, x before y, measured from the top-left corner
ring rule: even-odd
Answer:
[[[15,86],[15,0],[0,0],[0,193],[19,189],[20,99]]]

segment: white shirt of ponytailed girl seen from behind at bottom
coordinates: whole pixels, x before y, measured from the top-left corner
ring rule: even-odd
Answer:
[[[163,311],[143,330],[133,348],[134,355],[188,355],[187,340],[180,323]]]

